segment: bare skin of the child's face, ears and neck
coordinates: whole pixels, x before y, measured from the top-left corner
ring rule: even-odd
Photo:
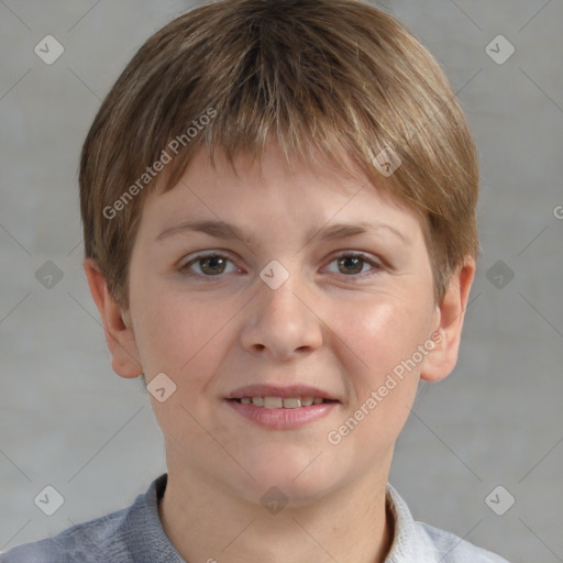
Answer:
[[[189,562],[383,562],[394,532],[385,487],[395,442],[419,379],[442,379],[456,363],[475,262],[460,266],[437,305],[419,220],[361,174],[301,161],[289,169],[274,142],[263,174],[244,155],[236,173],[223,159],[213,169],[198,153],[177,186],[151,194],[131,257],[128,310],[85,261],[115,373],[144,373],[150,383],[164,372],[177,386],[164,402],[151,397],[166,442],[164,530]],[[235,223],[256,241],[196,232],[155,241],[192,219]],[[307,238],[327,223],[361,221],[390,224],[406,240],[387,229]],[[202,251],[230,262],[180,271]],[[339,264],[344,251],[376,266]],[[275,290],[260,277],[272,260],[289,273]],[[432,334],[440,335],[433,350],[331,444],[328,433]],[[256,383],[307,384],[340,404],[300,429],[266,429],[224,401]],[[288,499],[276,515],[260,500],[272,486]]]

